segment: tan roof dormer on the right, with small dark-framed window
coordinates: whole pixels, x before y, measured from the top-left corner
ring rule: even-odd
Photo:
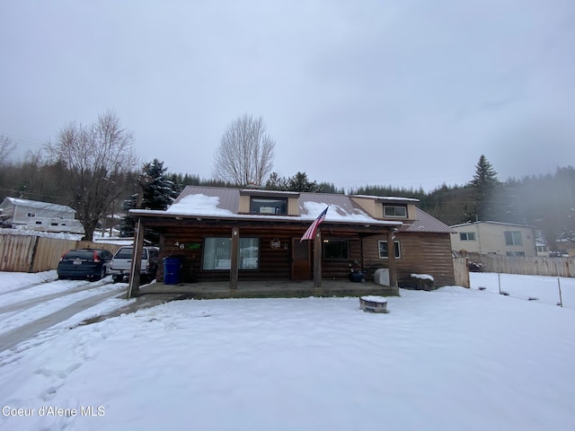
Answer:
[[[415,220],[415,204],[419,199],[378,196],[350,196],[369,216],[382,220]]]

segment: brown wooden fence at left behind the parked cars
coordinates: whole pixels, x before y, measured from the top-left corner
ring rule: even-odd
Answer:
[[[113,253],[118,248],[117,244],[0,233],[0,271],[49,271],[57,268],[68,250],[105,249]]]

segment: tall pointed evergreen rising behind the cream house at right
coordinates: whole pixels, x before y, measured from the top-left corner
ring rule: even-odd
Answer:
[[[497,179],[497,172],[483,154],[475,165],[475,175],[473,175],[473,180],[469,185],[472,189],[472,203],[467,207],[466,216],[468,219],[484,221],[495,216],[493,199],[500,181]]]

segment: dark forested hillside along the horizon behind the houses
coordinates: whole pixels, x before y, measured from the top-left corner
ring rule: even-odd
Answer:
[[[153,199],[167,205],[169,198],[157,196],[161,189],[150,190],[151,185],[158,181],[158,178],[153,178],[154,175],[162,177],[160,180],[166,197],[170,198],[186,185],[230,186],[224,181],[201,179],[195,174],[166,172],[163,163],[155,160],[116,179],[122,184],[121,193],[118,199],[111,201],[106,213],[118,215],[125,214],[130,207],[155,207],[154,203],[146,203],[146,196],[153,196]],[[40,154],[29,154],[23,163],[4,162],[0,169],[0,201],[12,196],[77,207],[70,178],[66,174],[66,166],[50,163]],[[572,166],[558,168],[549,175],[500,181],[491,164],[486,160],[482,164],[480,160],[473,177],[470,172],[470,179],[463,185],[442,184],[429,192],[393,185],[366,185],[349,189],[347,193],[418,198],[421,209],[448,225],[475,220],[533,225],[544,233],[555,250],[562,241],[575,242],[575,169]],[[170,187],[166,188],[165,184]],[[485,191],[486,187],[488,192]],[[305,172],[297,172],[288,178],[279,177],[274,172],[266,188],[344,192],[332,183],[318,184],[309,180]],[[152,192],[154,194],[150,195]]]

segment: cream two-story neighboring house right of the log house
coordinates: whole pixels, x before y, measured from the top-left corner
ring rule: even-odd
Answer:
[[[535,229],[524,224],[473,222],[451,226],[455,252],[536,256]]]

